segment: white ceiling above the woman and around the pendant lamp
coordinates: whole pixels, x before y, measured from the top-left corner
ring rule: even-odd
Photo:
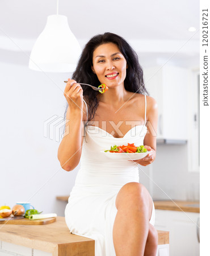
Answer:
[[[14,51],[9,44],[35,42],[47,16],[56,14],[56,0],[1,0],[0,52]],[[78,0],[59,1],[58,13],[68,17],[69,26],[81,44],[103,32],[114,32],[133,43],[142,59],[168,59],[199,62],[199,1]],[[197,32],[189,32],[189,27]],[[1,40],[2,39],[2,40]],[[186,43],[187,42],[187,43]],[[32,44],[21,44],[30,52]],[[180,49],[185,44],[184,48]],[[23,46],[24,45],[24,46]],[[18,50],[20,51],[20,49]],[[160,55],[161,54],[161,55]],[[2,55],[3,56],[3,55]],[[163,60],[164,61],[164,60]]]

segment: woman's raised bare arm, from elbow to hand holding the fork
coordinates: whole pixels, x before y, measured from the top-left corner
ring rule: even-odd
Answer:
[[[65,93],[68,95],[65,95],[65,97],[68,100],[69,107],[66,112],[65,134],[58,147],[57,156],[61,167],[66,171],[72,171],[78,166],[81,158],[84,129],[83,119],[86,116],[86,108],[83,105],[81,86],[78,84],[74,84],[72,87],[70,87],[70,84],[66,86],[70,88],[65,89]],[[72,91],[70,92],[70,90]]]

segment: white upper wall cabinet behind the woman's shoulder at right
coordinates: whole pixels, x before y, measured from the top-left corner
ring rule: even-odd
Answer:
[[[144,69],[144,82],[158,104],[157,139],[187,140],[188,87],[191,71],[169,65]]]

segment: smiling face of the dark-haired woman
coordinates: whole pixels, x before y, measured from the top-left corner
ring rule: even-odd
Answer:
[[[127,68],[125,57],[114,43],[101,44],[93,52],[92,70],[101,84],[110,88],[123,84]]]

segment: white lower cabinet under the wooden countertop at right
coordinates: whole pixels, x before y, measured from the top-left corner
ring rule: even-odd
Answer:
[[[170,256],[199,256],[197,222],[200,214],[156,210],[155,227],[169,231]]]

